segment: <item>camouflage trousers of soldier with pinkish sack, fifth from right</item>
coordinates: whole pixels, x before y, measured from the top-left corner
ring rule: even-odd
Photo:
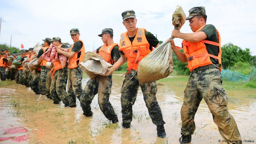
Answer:
[[[59,69],[53,74],[51,86],[50,86],[50,97],[53,102],[62,102],[65,105],[69,104],[68,95],[66,92],[67,80],[68,80],[67,68]]]

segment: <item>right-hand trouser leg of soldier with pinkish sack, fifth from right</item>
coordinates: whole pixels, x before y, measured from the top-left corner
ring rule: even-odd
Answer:
[[[62,102],[65,105],[68,105],[69,100],[68,100],[68,95],[66,91],[66,86],[67,86],[67,79],[68,79],[68,74],[67,74],[67,68],[64,67],[63,69],[57,70],[57,79],[56,79],[56,92],[58,97],[62,100]]]

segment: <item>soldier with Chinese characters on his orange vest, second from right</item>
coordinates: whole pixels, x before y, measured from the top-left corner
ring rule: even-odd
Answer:
[[[139,86],[142,89],[144,101],[153,124],[157,125],[157,136],[165,137],[165,128],[162,111],[158,105],[155,94],[157,93],[157,83],[148,82],[140,84],[137,79],[137,70],[140,60],[147,56],[153,48],[159,46],[159,41],[153,34],[143,28],[136,28],[137,19],[133,10],[127,10],[122,13],[123,24],[127,32],[121,34],[120,54],[121,57],[108,69],[105,76],[110,75],[127,60],[128,71],[125,75],[123,86],[121,88],[121,106],[123,114],[123,128],[130,128],[132,121],[132,105],[137,96]],[[136,57],[139,59],[136,60]]]

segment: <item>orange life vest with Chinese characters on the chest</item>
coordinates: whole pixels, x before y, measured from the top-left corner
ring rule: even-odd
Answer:
[[[145,31],[143,28],[138,28],[132,43],[127,32],[121,34],[119,50],[127,57],[128,72],[131,69],[138,70],[139,62],[151,52]]]

